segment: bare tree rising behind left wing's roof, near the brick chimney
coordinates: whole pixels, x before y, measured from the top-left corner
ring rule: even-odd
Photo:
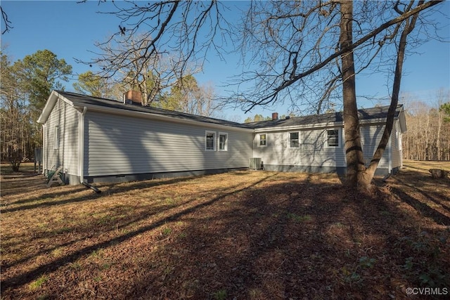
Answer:
[[[186,75],[199,72],[209,48],[219,47],[216,34],[226,24],[212,1],[124,1],[113,3],[110,14],[120,18],[119,31],[96,44],[100,51],[89,65],[97,74],[141,91],[150,105],[162,91],[179,85]],[[145,28],[145,30],[142,30]],[[200,42],[201,34],[204,42]]]

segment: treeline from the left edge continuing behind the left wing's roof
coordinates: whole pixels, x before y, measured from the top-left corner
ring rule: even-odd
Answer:
[[[1,51],[0,70],[1,161],[8,161],[17,171],[20,162],[34,159],[34,148],[42,145],[37,119],[51,91],[64,90],[63,83],[76,75],[72,74],[71,65],[49,50],[39,50],[15,62]],[[143,76],[145,84],[137,86],[127,81],[131,70],[123,70],[124,77],[114,79],[84,72],[77,76],[73,88],[77,93],[113,100],[122,100],[123,93],[129,90],[141,91],[143,96],[151,92],[152,101],[146,105],[207,117],[219,111],[213,103],[214,88],[198,84],[192,74],[155,88],[155,82],[160,81],[158,72],[144,70],[148,75]]]

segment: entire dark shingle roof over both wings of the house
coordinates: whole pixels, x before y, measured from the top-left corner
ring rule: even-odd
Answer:
[[[98,105],[102,107],[117,108],[118,110],[131,110],[135,112],[146,112],[154,115],[162,115],[166,117],[174,117],[179,119],[188,119],[191,121],[205,122],[210,124],[219,124],[225,126],[234,126],[247,129],[262,129],[269,127],[283,127],[283,126],[307,126],[314,124],[331,124],[334,122],[342,122],[342,112],[332,112],[323,115],[310,115],[304,117],[290,117],[289,119],[277,119],[261,122],[251,122],[251,123],[237,123],[226,121],[223,119],[214,119],[210,117],[203,117],[199,115],[191,115],[185,112],[175,112],[173,110],[163,110],[157,107],[125,104],[122,101],[110,100],[105,98],[97,98],[93,96],[80,95],[78,93],[70,93],[67,91],[56,91],[61,96],[64,96],[68,100],[72,101],[75,106],[82,107],[84,104]],[[397,110],[395,117],[399,116],[403,105],[397,105]],[[387,110],[389,106],[366,108],[364,110],[359,110],[359,119],[370,120],[370,119],[380,119],[387,116]]]

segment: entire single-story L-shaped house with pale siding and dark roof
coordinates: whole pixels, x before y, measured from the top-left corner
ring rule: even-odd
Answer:
[[[62,166],[70,184],[134,181],[248,169],[255,159],[267,170],[345,172],[340,113],[240,124],[134,100],[131,93],[120,102],[53,91],[38,119],[44,173]],[[366,157],[383,133],[386,113],[387,107],[360,111]],[[399,105],[379,174],[401,167],[404,131]]]

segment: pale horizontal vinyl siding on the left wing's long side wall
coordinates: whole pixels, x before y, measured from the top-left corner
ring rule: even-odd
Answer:
[[[106,176],[249,167],[252,131],[227,129],[228,151],[205,151],[205,125],[87,111],[84,175]],[[205,128],[206,127],[206,128]],[[217,143],[215,141],[214,143]]]

